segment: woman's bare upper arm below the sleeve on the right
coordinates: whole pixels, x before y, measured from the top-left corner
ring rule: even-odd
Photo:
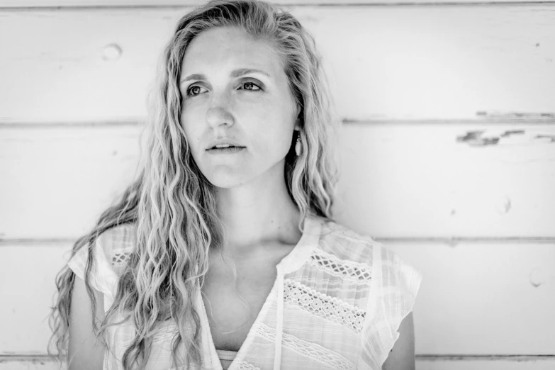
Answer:
[[[399,325],[399,337],[382,370],[415,370],[415,327],[413,313],[410,312]]]

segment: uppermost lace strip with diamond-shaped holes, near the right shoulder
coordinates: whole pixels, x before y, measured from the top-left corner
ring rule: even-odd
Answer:
[[[308,262],[320,271],[326,271],[344,280],[365,281],[370,283],[372,279],[371,270],[368,265],[339,259],[333,254],[329,254],[323,250],[315,250],[315,252],[310,255]]]

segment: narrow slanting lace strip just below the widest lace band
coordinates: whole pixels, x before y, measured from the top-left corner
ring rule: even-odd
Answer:
[[[272,329],[268,325],[261,323],[257,329],[257,333],[268,340],[269,342],[274,342],[276,337],[276,330]],[[332,369],[354,369],[354,364],[343,357],[337,352],[333,352],[330,349],[320,346],[320,344],[310,343],[305,340],[301,340],[298,337],[283,333],[281,338],[282,344],[288,349],[292,349],[298,354],[302,354],[305,357],[313,359],[315,361],[320,361],[322,364],[330,366]]]

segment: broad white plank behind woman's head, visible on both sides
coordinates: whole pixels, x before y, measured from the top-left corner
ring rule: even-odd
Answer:
[[[187,8],[0,11],[0,120],[145,115]],[[555,117],[555,4],[291,6],[324,57],[338,116]],[[116,45],[116,46],[113,46]],[[118,56],[118,48],[121,53]]]

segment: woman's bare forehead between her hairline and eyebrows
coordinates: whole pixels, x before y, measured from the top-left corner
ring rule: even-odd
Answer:
[[[281,69],[279,58],[267,40],[254,40],[240,28],[218,27],[203,31],[191,41],[181,74],[218,72],[223,65],[263,69],[272,76]]]

